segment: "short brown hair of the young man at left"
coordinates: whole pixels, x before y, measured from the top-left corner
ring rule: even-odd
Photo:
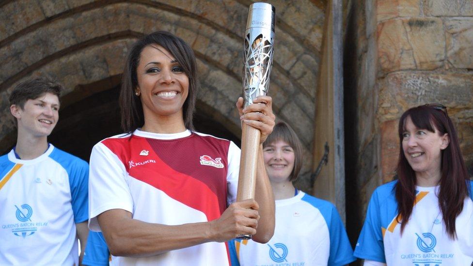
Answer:
[[[32,78],[16,85],[8,100],[10,105],[16,105],[23,109],[28,100],[34,100],[39,96],[51,93],[61,98],[64,87],[52,78]]]

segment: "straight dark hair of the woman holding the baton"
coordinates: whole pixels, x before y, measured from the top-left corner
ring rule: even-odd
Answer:
[[[143,48],[153,44],[158,44],[169,51],[189,78],[189,94],[182,111],[184,125],[186,128],[194,130],[192,117],[195,110],[197,91],[199,90],[194,51],[184,40],[167,31],[155,31],[143,36],[133,44],[126,57],[119,99],[122,129],[125,132],[133,132],[144,124],[142,102],[140,97],[135,95],[135,88],[138,85],[136,69],[140,63]]]

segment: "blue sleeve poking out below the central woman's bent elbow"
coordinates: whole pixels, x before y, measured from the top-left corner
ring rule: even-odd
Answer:
[[[90,231],[82,264],[88,266],[108,266],[109,258],[110,252],[102,233]]]

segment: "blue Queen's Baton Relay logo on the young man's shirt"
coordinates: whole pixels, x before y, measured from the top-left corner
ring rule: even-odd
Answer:
[[[1,229],[12,230],[13,235],[26,238],[38,231],[38,228],[47,226],[47,222],[37,222],[33,219],[33,208],[29,204],[15,205],[15,218],[19,222],[2,224]],[[13,213],[12,213],[13,214]]]

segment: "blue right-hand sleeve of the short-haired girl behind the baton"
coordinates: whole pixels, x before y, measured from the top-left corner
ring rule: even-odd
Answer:
[[[330,234],[328,265],[341,266],[355,261],[356,258],[353,256],[353,249],[348,240],[347,231],[335,207],[332,208],[330,224],[328,225]]]

